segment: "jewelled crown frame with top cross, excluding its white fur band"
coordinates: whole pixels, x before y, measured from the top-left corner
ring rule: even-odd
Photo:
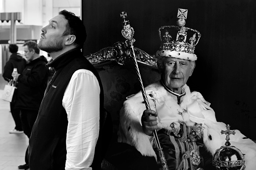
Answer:
[[[201,34],[197,30],[185,27],[187,16],[188,10],[178,9],[178,26],[163,26],[158,29],[161,50],[195,53],[195,46]]]

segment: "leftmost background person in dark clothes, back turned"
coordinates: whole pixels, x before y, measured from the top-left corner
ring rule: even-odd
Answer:
[[[26,60],[17,53],[18,49],[19,47],[16,44],[9,45],[9,52],[11,53],[11,56],[4,67],[3,73],[4,79],[8,82],[13,80],[12,73],[14,68],[17,68],[18,73],[22,73],[26,66]],[[18,87],[18,83],[16,83],[16,87]],[[10,130],[9,133],[17,134],[23,133],[23,129],[20,119],[20,109],[15,108],[15,103],[16,101],[10,102],[10,108],[15,122],[15,128],[13,130]]]

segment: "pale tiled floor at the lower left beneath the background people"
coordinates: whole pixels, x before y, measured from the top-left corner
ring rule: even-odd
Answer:
[[[15,124],[10,112],[10,103],[1,99],[0,90],[0,170],[16,170],[25,163],[25,151],[28,137],[22,134],[10,134]]]

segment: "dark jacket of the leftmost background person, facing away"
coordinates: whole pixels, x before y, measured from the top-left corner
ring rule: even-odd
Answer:
[[[4,67],[4,79],[8,82],[13,79],[12,73],[14,68],[17,68],[18,73],[21,74],[26,66],[26,63],[27,61],[22,56],[17,53],[13,53]]]

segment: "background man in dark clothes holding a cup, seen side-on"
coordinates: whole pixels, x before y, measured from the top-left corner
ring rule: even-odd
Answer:
[[[48,67],[44,56],[39,55],[39,48],[34,41],[24,43],[25,57],[28,60],[22,74],[12,76],[18,81],[17,103],[15,107],[21,110],[21,122],[24,133],[30,138],[32,127],[36,121],[39,107],[47,86]],[[18,166],[19,169],[28,169],[28,148],[25,154],[25,164]]]

